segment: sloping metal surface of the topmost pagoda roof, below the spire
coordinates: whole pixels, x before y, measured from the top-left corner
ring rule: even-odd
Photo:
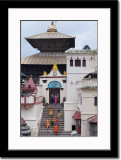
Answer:
[[[60,39],[60,38],[75,38],[75,37],[60,32],[45,32],[31,37],[26,37],[25,39]]]

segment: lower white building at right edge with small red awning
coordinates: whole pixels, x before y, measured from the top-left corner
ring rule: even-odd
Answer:
[[[97,136],[97,72],[81,80],[78,107],[81,112],[81,136]]]

